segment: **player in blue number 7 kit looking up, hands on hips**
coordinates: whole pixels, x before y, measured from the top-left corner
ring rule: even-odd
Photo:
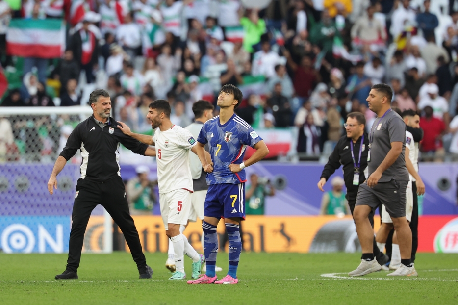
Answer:
[[[209,185],[204,205],[204,254],[206,273],[188,284],[236,284],[237,267],[242,251],[240,221],[245,220],[245,170],[265,157],[269,150],[253,128],[234,113],[242,102],[242,92],[233,85],[225,85],[218,96],[220,115],[208,120],[197,138],[197,153]],[[206,160],[204,146],[208,143],[211,162]],[[247,146],[256,152],[243,161]],[[221,218],[229,234],[229,272],[217,280],[215,273],[218,236],[216,226]]]

